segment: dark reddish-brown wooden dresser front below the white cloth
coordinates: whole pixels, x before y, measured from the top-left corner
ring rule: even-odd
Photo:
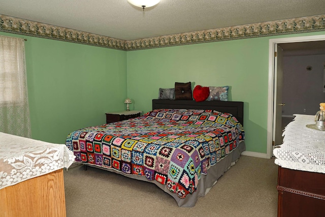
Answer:
[[[279,166],[278,216],[325,216],[325,173]]]

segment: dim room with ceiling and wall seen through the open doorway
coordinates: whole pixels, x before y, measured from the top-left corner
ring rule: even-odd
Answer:
[[[319,103],[325,102],[325,40],[279,45],[283,49],[283,130],[293,120],[293,114],[315,115]]]

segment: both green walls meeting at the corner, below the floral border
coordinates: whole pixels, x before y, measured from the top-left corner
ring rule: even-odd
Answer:
[[[315,32],[137,51],[25,37],[32,138],[64,143],[77,129],[105,123],[105,112],[151,110],[158,89],[175,82],[229,85],[244,102],[246,150],[267,152],[269,39]],[[22,37],[0,32],[0,35]]]

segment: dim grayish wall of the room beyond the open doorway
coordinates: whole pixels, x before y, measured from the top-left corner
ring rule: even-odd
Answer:
[[[324,63],[325,55],[283,56],[282,115],[316,114],[325,102]]]

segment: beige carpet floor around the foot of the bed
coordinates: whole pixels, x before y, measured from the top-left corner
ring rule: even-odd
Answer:
[[[277,216],[274,159],[241,156],[196,206],[180,208],[156,185],[101,169],[64,170],[67,216]]]

